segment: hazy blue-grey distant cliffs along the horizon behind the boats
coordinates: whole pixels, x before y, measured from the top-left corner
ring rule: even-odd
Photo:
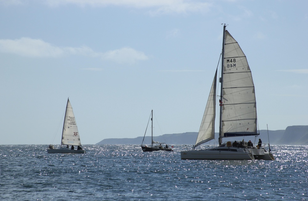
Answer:
[[[272,145],[308,145],[308,126],[289,126],[286,130],[268,131],[260,130],[260,135],[257,136],[257,141],[259,138],[262,139],[263,143],[268,143],[270,138],[270,144]],[[176,134],[164,134],[156,136],[154,141],[165,142],[169,145],[173,144],[187,144],[192,145],[196,143],[198,132],[186,132],[186,133],[176,133]],[[218,138],[218,133],[215,133],[215,139]],[[141,144],[142,137],[136,138],[109,138],[103,139],[96,144]],[[233,138],[229,138],[232,140]],[[238,139],[238,138],[237,138]],[[254,141],[254,136],[246,136],[245,140]],[[223,141],[227,141],[226,138]],[[145,136],[144,144],[151,144],[151,137]]]

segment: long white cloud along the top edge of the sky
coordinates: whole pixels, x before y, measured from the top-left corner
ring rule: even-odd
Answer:
[[[191,0],[45,0],[49,6],[75,4],[84,6],[127,6],[133,8],[149,8],[152,15],[166,13],[188,13],[208,11],[212,4],[203,1]]]

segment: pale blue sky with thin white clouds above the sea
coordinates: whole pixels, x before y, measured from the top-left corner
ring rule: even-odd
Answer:
[[[82,144],[143,136],[152,109],[155,135],[198,132],[222,24],[249,62],[259,129],[308,125],[307,7],[0,0],[0,144],[60,144],[67,98]]]

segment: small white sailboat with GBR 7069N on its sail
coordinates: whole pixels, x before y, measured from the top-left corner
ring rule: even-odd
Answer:
[[[64,147],[62,147],[63,145]],[[85,153],[85,151],[81,147],[79,132],[77,129],[77,124],[76,124],[75,116],[73,113],[73,108],[71,106],[69,99],[67,99],[64,123],[63,123],[61,147],[59,149],[55,149],[53,145],[49,145],[49,147],[47,148],[47,153],[48,154],[53,154],[53,153],[83,154]]]

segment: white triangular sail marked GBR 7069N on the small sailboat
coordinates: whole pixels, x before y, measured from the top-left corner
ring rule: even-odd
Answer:
[[[63,145],[76,145],[81,146],[79,133],[77,129],[77,124],[75,116],[73,113],[73,108],[71,106],[70,100],[67,99],[66,112],[63,123],[62,131],[62,144]]]

